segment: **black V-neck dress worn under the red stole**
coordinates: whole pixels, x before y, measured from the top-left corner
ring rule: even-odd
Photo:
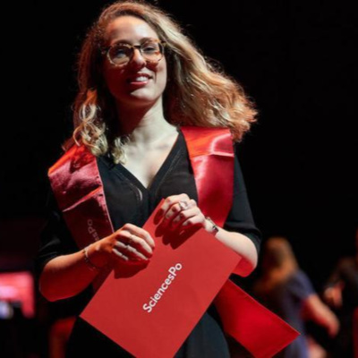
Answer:
[[[175,145],[163,165],[159,168],[149,188],[145,188],[123,165],[115,165],[110,156],[97,158],[97,161],[99,174],[104,185],[107,208],[115,230],[124,226],[125,223],[143,226],[151,212],[158,206],[159,201],[170,195],[185,192],[191,199],[198,201],[192,166],[181,131],[179,131]],[[42,268],[44,268],[49,260],[54,259],[56,256],[79,250],[64,223],[61,212],[55,205],[53,195],[51,195],[49,205],[52,209],[47,226],[41,235],[38,257],[35,261],[38,277]],[[234,160],[233,207],[226,218],[224,228],[228,231],[245,234],[251,239],[259,251],[260,231],[255,227],[251,216],[251,209],[243,183],[243,175],[236,154]],[[86,303],[88,303],[92,294],[92,290],[89,287],[74,298],[61,300],[61,302],[57,304],[56,311],[60,311],[60,315],[78,315]],[[61,310],[58,308],[59,306],[61,306]],[[86,327],[84,328],[83,326]],[[98,336],[98,334],[84,321],[77,322],[76,328],[78,329],[74,329],[75,332],[72,334],[72,346],[78,346],[79,350],[81,349],[82,355],[83,345],[77,345],[74,341],[80,342],[81,337],[87,337],[86,346],[89,346],[89,335]],[[84,334],[83,332],[86,329],[87,331]],[[88,331],[89,329],[91,332]],[[79,334],[78,331],[81,331],[83,334]],[[74,339],[74,337],[76,338]],[[106,346],[108,351],[108,347],[112,342],[110,342],[107,337],[100,337],[100,340],[104,340],[108,344],[108,346]],[[96,345],[99,345],[99,343],[97,342]],[[209,311],[204,314],[198,326],[192,331],[192,334],[188,337],[177,356],[188,356],[188,354],[196,356],[196,353],[201,357],[209,357],[209,355],[202,355],[203,350],[205,350],[204,346],[207,347],[208,352],[210,351],[212,354],[217,353],[217,355],[213,356],[226,356],[226,354],[224,354],[224,352],[227,353],[225,338],[213,306],[210,306]],[[117,346],[115,345],[114,348],[116,349]],[[93,349],[93,347],[89,348],[89,353],[93,354]],[[218,354],[218,352],[220,353]],[[73,351],[72,354],[75,356],[77,353]],[[126,355],[115,351],[115,356]]]

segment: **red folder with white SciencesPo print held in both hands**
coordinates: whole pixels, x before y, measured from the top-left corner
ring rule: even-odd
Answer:
[[[161,230],[156,212],[144,226],[156,242],[149,264],[113,271],[81,313],[140,358],[174,356],[241,260],[202,228]]]

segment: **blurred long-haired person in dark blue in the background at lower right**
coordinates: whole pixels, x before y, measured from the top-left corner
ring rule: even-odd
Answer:
[[[254,287],[263,303],[276,312],[301,336],[277,356],[306,358],[309,356],[304,319],[313,320],[337,334],[338,321],[311,286],[310,279],[298,267],[290,243],[284,237],[271,237],[265,243],[262,257],[262,276]]]

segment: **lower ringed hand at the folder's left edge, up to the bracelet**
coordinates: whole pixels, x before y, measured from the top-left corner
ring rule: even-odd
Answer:
[[[155,243],[149,232],[139,226],[125,224],[115,233],[92,243],[88,250],[90,261],[98,268],[113,265],[115,260],[127,264],[147,262],[153,255]]]

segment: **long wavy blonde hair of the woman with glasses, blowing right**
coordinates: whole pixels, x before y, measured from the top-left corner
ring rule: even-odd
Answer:
[[[117,1],[107,6],[83,42],[72,140],[77,145],[82,142],[95,156],[110,152],[115,163],[124,159],[125,137],[118,133],[115,98],[109,93],[101,70],[107,25],[124,15],[146,21],[158,38],[166,42],[169,79],[163,94],[166,120],[174,125],[229,128],[234,141],[240,141],[256,115],[243,88],[209,64],[170,15],[138,0]]]

